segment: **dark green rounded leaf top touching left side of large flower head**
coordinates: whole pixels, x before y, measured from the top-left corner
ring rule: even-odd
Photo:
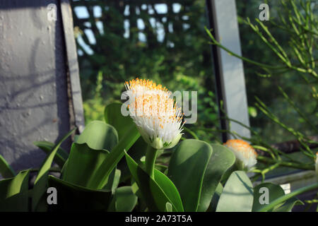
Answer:
[[[119,140],[124,137],[127,129],[134,125],[134,121],[131,117],[124,117],[121,112],[122,103],[112,102],[105,107],[105,121],[107,124],[114,126],[118,132]]]

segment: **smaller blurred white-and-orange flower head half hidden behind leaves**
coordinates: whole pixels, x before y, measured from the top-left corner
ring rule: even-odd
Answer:
[[[235,154],[237,165],[241,169],[249,169],[257,164],[257,153],[246,141],[228,140],[224,145]]]

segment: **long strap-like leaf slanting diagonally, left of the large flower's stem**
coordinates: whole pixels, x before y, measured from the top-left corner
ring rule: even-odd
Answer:
[[[131,146],[137,141],[140,133],[135,125],[131,125],[126,131],[125,135],[119,143],[112,149],[110,155],[102,162],[96,173],[91,177],[88,183],[89,187],[97,187],[102,189],[107,184],[107,178],[116,167],[119,160],[124,156],[124,150],[129,150]]]

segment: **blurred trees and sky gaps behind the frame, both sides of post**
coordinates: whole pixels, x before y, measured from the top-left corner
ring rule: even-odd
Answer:
[[[265,2],[269,4],[271,20],[278,19],[278,12],[287,15],[280,1]],[[258,18],[262,3],[236,1],[242,55],[275,64],[277,59],[271,49],[243,21],[247,17],[252,21]],[[86,122],[102,119],[104,106],[120,100],[124,81],[138,76],[153,79],[172,91],[197,90],[198,121],[187,128],[201,140],[219,141],[211,47],[204,31],[208,25],[205,4],[204,0],[147,1],[147,4],[136,0],[71,2]],[[317,3],[312,1],[312,7],[317,9]],[[277,28],[271,20],[266,25],[285,51],[291,53],[288,31]],[[251,125],[264,141],[289,141],[293,136],[257,110],[255,96],[283,123],[308,136],[314,134],[277,88],[281,85],[317,125],[317,102],[312,101],[300,76],[292,71],[263,78],[257,75],[256,66],[245,63],[244,68]]]

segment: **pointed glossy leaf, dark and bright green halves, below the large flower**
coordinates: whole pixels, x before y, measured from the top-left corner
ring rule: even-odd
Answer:
[[[146,202],[149,210],[164,212],[165,205],[169,202],[172,204],[174,211],[183,211],[182,201],[177,188],[165,174],[155,169],[155,179],[151,179],[128,154],[126,154],[126,161],[132,177],[139,186],[143,201]]]

